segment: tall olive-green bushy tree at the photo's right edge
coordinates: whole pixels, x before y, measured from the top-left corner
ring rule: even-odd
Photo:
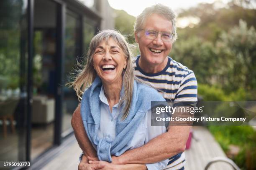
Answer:
[[[256,31],[253,26],[247,27],[245,21],[223,32],[217,42],[219,55],[229,56],[229,69],[222,72],[223,78],[232,84],[233,90],[244,87],[247,90],[256,88]],[[227,60],[222,60],[227,62]],[[227,75],[225,75],[227,74]]]

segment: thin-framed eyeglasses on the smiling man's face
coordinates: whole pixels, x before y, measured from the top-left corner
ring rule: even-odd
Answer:
[[[174,38],[174,33],[172,32],[161,32],[161,31],[156,31],[156,30],[141,30],[145,32],[145,36],[146,38],[150,39],[150,40],[154,40],[158,34],[161,34],[161,39],[164,42],[170,42],[173,40]]]

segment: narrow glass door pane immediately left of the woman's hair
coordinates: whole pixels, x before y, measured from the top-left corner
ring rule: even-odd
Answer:
[[[81,35],[79,35],[81,24],[79,16],[70,10],[66,13],[66,28],[65,28],[65,57],[64,57],[64,85],[73,80],[74,69],[77,57],[81,51]],[[62,119],[62,137],[72,132],[71,117],[75,108],[78,105],[76,93],[72,88],[63,87],[63,119]]]

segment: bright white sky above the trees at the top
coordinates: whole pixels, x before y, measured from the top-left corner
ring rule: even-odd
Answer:
[[[178,13],[179,9],[187,9],[198,3],[212,3],[216,0],[108,0],[111,7],[117,10],[125,10],[128,14],[138,16],[146,7],[160,3],[169,6]],[[230,0],[220,0],[224,3]]]

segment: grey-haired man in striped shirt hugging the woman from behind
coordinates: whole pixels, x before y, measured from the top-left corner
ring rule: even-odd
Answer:
[[[197,101],[197,81],[193,71],[168,57],[177,38],[173,11],[159,4],[147,7],[136,18],[134,34],[141,52],[134,63],[135,75],[159,89],[166,101]],[[72,126],[85,155],[82,161],[86,162],[86,156],[94,157],[96,152],[85,133],[80,106],[74,112]],[[112,163],[146,164],[169,158],[166,169],[182,170],[189,129],[190,126],[169,126],[166,133],[146,145],[113,157]]]

